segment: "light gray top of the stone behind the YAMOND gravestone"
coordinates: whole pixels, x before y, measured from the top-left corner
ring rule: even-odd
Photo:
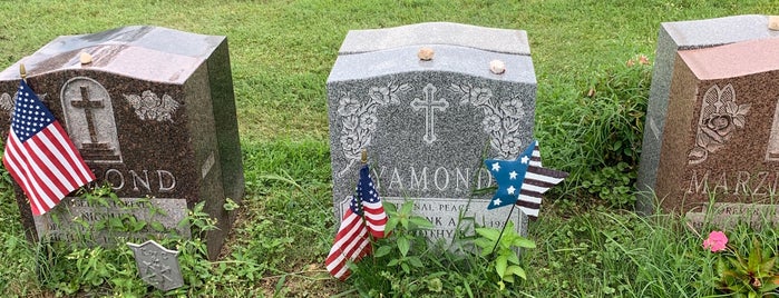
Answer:
[[[339,54],[361,53],[399,47],[448,44],[485,51],[530,54],[523,30],[485,28],[451,22],[426,22],[395,28],[351,30]]]

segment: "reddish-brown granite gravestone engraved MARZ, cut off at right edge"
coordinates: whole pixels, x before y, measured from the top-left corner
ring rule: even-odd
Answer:
[[[779,39],[676,53],[654,190],[700,219],[761,210],[779,224]],[[747,212],[747,209],[751,211]]]

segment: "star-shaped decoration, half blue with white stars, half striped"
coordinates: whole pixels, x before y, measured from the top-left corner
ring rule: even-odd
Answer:
[[[538,141],[533,141],[516,160],[487,159],[484,165],[498,183],[487,209],[516,203],[532,219],[538,218],[542,195],[568,177],[567,172],[542,167]]]

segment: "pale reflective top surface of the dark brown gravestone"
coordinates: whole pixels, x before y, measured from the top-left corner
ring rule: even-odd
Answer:
[[[225,40],[160,27],[130,26],[92,34],[61,36],[14,66],[0,80],[19,79],[19,63],[28,77],[81,69],[80,53],[94,57],[90,70],[120,73],[145,81],[183,83]]]

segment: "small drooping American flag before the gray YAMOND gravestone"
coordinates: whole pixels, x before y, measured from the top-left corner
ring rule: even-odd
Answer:
[[[347,266],[349,261],[359,261],[371,254],[370,237],[383,238],[387,225],[387,213],[373,187],[368,165],[360,169],[356,195],[343,215],[333,247],[324,260],[330,275],[341,280],[351,275]]]

